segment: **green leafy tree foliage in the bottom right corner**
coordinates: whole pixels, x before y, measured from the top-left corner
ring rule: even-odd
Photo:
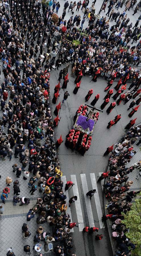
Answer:
[[[136,244],[136,249],[132,251],[132,255],[141,256],[141,199],[135,199],[131,210],[123,215],[122,223],[129,229],[126,236],[132,243]]]

